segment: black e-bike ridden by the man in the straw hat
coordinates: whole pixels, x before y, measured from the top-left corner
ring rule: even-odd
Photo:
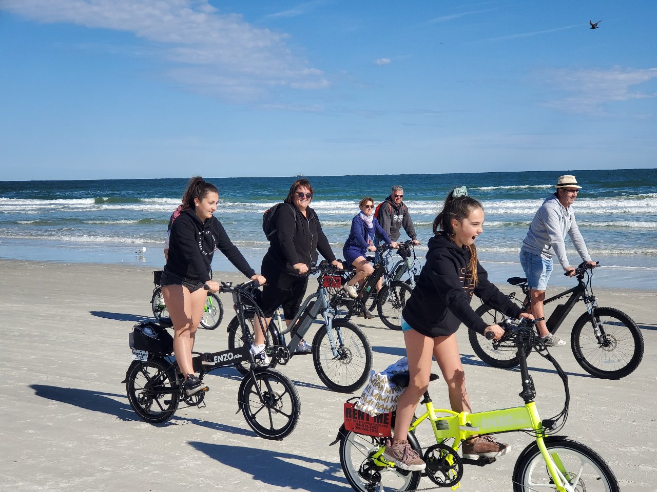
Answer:
[[[637,323],[627,314],[615,308],[598,307],[597,297],[593,295],[591,285],[593,268],[586,262],[581,263],[575,271],[578,285],[545,300],[545,304],[548,304],[570,295],[564,304],[556,306],[547,319],[547,329],[550,333],[556,333],[576,302],[582,300],[586,312],[575,321],[570,334],[570,348],[573,355],[587,373],[601,379],[620,379],[639,367],[643,358],[643,335]],[[524,302],[520,302],[515,297],[515,293],[509,295],[510,300],[526,310],[530,303],[527,279],[511,277],[508,282],[520,287],[525,294]],[[475,312],[488,325],[499,324],[504,318],[501,312],[486,304],[479,306]],[[501,369],[518,365],[512,333],[505,334],[500,340],[487,340],[470,330],[468,337],[474,353],[488,365]]]

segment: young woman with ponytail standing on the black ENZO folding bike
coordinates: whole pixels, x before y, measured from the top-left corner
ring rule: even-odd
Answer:
[[[189,180],[183,195],[180,215],[171,224],[169,255],[162,273],[162,297],[173,322],[173,353],[188,395],[207,390],[208,386],[194,375],[192,348],[196,327],[203,316],[206,291],[219,290],[210,279],[212,256],[221,250],[242,274],[262,285],[265,277],[256,275],[231,242],[221,222],[213,215],[217,210],[219,191],[200,176]]]

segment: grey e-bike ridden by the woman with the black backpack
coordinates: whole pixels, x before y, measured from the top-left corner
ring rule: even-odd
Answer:
[[[334,317],[329,305],[327,285],[340,281],[338,270],[327,261],[311,266],[310,274],[319,274],[319,288],[309,295],[290,322],[289,341],[271,321],[265,335],[265,352],[269,367],[285,365],[290,358],[304,355],[294,352],[315,319],[321,316],[321,326],[311,343],[313,364],[319,379],[332,391],[351,393],[363,386],[372,369],[372,347],[363,331],[351,321]],[[255,304],[244,306],[244,319],[237,316],[228,323],[228,346],[235,348],[244,343],[244,333],[253,338]],[[250,346],[250,344],[249,344]],[[243,362],[236,364],[242,374],[248,369]]]

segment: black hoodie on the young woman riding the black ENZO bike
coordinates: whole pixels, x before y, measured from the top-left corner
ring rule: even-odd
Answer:
[[[193,209],[183,211],[171,224],[166,272],[206,282],[210,280],[212,256],[219,249],[247,277],[256,274],[216,217],[201,222]]]

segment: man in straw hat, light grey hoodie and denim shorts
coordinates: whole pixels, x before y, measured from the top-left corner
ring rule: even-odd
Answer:
[[[590,265],[596,264],[589,256],[584,238],[579,233],[575,214],[570,208],[581,186],[571,174],[559,176],[555,186],[556,192],[543,201],[543,205],[534,215],[520,249],[520,264],[531,289],[530,302],[534,318],[545,316],[543,301],[547,281],[552,273],[552,256],[556,255],[569,277],[575,274],[575,267],[570,265],[566,257],[566,234],[572,239],[579,256]],[[545,320],[538,321],[536,325],[546,346],[560,347],[566,344],[564,340],[549,333]]]

